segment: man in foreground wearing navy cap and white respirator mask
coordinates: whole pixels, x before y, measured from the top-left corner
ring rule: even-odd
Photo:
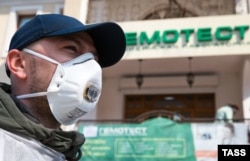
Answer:
[[[84,136],[60,126],[96,106],[101,68],[117,63],[125,48],[112,22],[84,25],[45,14],[23,25],[6,59],[11,86],[0,88],[0,160],[79,160]]]

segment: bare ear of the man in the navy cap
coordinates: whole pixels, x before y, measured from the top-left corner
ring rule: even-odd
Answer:
[[[7,59],[7,68],[11,74],[15,75],[19,79],[25,79],[27,73],[25,71],[25,59],[21,53],[21,51],[17,49],[12,49],[9,51]]]

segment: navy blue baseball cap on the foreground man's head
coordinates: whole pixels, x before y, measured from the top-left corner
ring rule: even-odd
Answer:
[[[93,39],[101,67],[114,65],[122,58],[126,49],[126,39],[118,24],[104,22],[84,25],[73,17],[61,14],[43,14],[32,18],[13,35],[9,50],[22,50],[45,37],[69,35],[81,31],[87,32]]]

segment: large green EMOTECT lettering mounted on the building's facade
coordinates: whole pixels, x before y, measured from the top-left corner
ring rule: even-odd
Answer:
[[[155,30],[152,34],[145,31],[142,32],[127,32],[126,42],[128,46],[150,45],[150,44],[175,44],[179,39],[182,39],[183,44],[187,44],[193,36],[198,43],[212,41],[230,41],[236,37],[238,41],[244,40],[248,25],[241,26],[220,26],[212,32],[211,27],[207,28],[190,28],[181,30]]]

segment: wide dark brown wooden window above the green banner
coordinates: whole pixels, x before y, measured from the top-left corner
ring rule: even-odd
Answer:
[[[125,97],[125,119],[133,119],[154,110],[166,110],[190,119],[211,119],[215,115],[213,93],[127,95]]]

